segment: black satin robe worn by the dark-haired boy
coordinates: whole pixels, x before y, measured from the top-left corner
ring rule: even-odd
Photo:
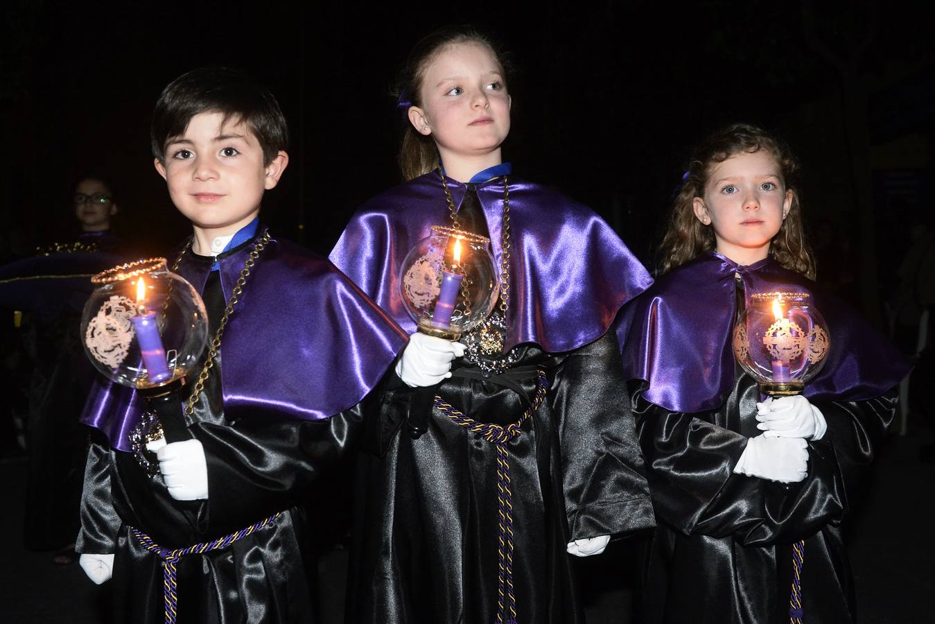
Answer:
[[[210,261],[210,259],[207,259]],[[223,310],[216,278],[205,288],[212,329]],[[213,292],[212,292],[213,291]],[[220,307],[219,307],[220,306]],[[178,621],[313,622],[315,559],[309,553],[307,514],[328,514],[306,501],[312,482],[359,435],[364,403],[327,420],[224,417],[222,353],[188,430],[208,463],[207,501],[175,501],[161,476],[149,479],[135,456],[92,444],[81,501],[80,553],[116,553],[114,621],[163,622],[162,559],[144,549],[130,527],[165,548],[209,542],[269,515],[275,521],[251,535],[178,564]],[[200,370],[200,367],[198,367]],[[190,380],[190,384],[194,380]],[[189,385],[188,387],[191,387]],[[308,510],[308,511],[307,511]]]

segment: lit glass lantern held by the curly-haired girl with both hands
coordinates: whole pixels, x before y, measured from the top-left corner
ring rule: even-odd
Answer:
[[[808,293],[755,293],[734,326],[734,356],[772,397],[800,394],[825,366],[829,346]]]

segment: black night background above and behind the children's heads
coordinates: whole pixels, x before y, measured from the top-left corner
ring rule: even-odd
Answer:
[[[932,208],[933,22],[896,4],[582,2],[525,12],[504,2],[10,0],[0,92],[13,141],[0,174],[7,245],[28,254],[67,238],[69,196],[87,171],[112,180],[116,227],[141,253],[182,239],[188,226],[151,165],[151,109],[184,71],[232,65],[278,97],[292,131],[290,166],[264,219],[327,253],[352,210],[400,181],[402,116],[390,92],[412,43],[471,22],[502,39],[518,69],[504,149],[514,173],[600,212],[645,262],[691,145],[748,121],[777,131],[802,161],[806,223],[819,259],[834,258],[819,279],[850,280],[846,291],[865,275],[841,277],[848,269],[836,265],[865,249],[860,200],[872,202],[883,270],[870,278],[885,290],[885,266],[899,260],[889,248]]]

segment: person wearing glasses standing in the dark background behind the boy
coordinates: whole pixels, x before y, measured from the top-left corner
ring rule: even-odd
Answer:
[[[70,235],[0,267],[0,308],[19,311],[4,316],[16,319],[17,347],[24,354],[22,394],[29,406],[23,537],[28,548],[51,551],[59,565],[76,559],[88,437],[78,417],[95,374],[79,337],[92,287],[88,275],[125,261],[121,239],[110,228],[118,208],[105,177],[84,175],[63,199],[65,206],[70,199],[77,219]]]

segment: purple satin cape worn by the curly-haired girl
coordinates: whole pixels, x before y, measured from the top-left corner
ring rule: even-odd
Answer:
[[[825,367],[805,385],[810,399],[860,400],[883,394],[909,373],[896,348],[857,312],[771,256],[741,267],[704,254],[661,277],[628,306],[620,336],[627,380],[649,383],[643,396],[667,410],[718,408],[734,382],[731,348],[736,308],[734,274],[753,293],[804,292],[825,317],[831,349]]]

